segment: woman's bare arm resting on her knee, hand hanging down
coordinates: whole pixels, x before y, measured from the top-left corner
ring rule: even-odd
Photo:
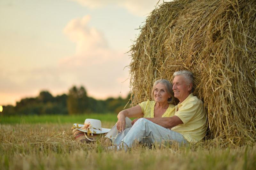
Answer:
[[[117,115],[117,118],[118,118],[116,123],[117,131],[121,132],[124,130],[125,117],[134,118],[134,117],[142,117],[142,116],[143,116],[143,112],[139,104],[134,107],[122,110]]]

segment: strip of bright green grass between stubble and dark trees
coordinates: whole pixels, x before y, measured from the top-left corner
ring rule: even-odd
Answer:
[[[79,115],[22,115],[22,116],[0,116],[0,124],[34,124],[34,123],[80,123],[84,120],[98,119],[101,121],[116,122],[116,114],[79,114]]]

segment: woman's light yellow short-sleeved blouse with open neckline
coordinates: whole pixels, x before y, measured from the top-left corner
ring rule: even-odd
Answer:
[[[156,104],[156,101],[150,101],[150,100],[139,104],[143,112],[143,118],[154,118],[155,104]],[[174,113],[175,113],[175,105],[169,104],[169,107],[162,115],[162,118],[172,117]]]

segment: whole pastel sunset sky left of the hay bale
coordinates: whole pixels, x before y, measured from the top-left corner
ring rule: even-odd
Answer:
[[[132,42],[158,0],[1,0],[0,105],[84,86],[126,97]],[[128,53],[127,53],[128,52]]]

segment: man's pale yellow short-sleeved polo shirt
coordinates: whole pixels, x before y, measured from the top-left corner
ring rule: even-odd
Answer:
[[[175,106],[174,115],[178,116],[183,124],[177,125],[171,130],[179,132],[188,142],[196,143],[205,136],[204,104],[192,93],[182,103]]]

